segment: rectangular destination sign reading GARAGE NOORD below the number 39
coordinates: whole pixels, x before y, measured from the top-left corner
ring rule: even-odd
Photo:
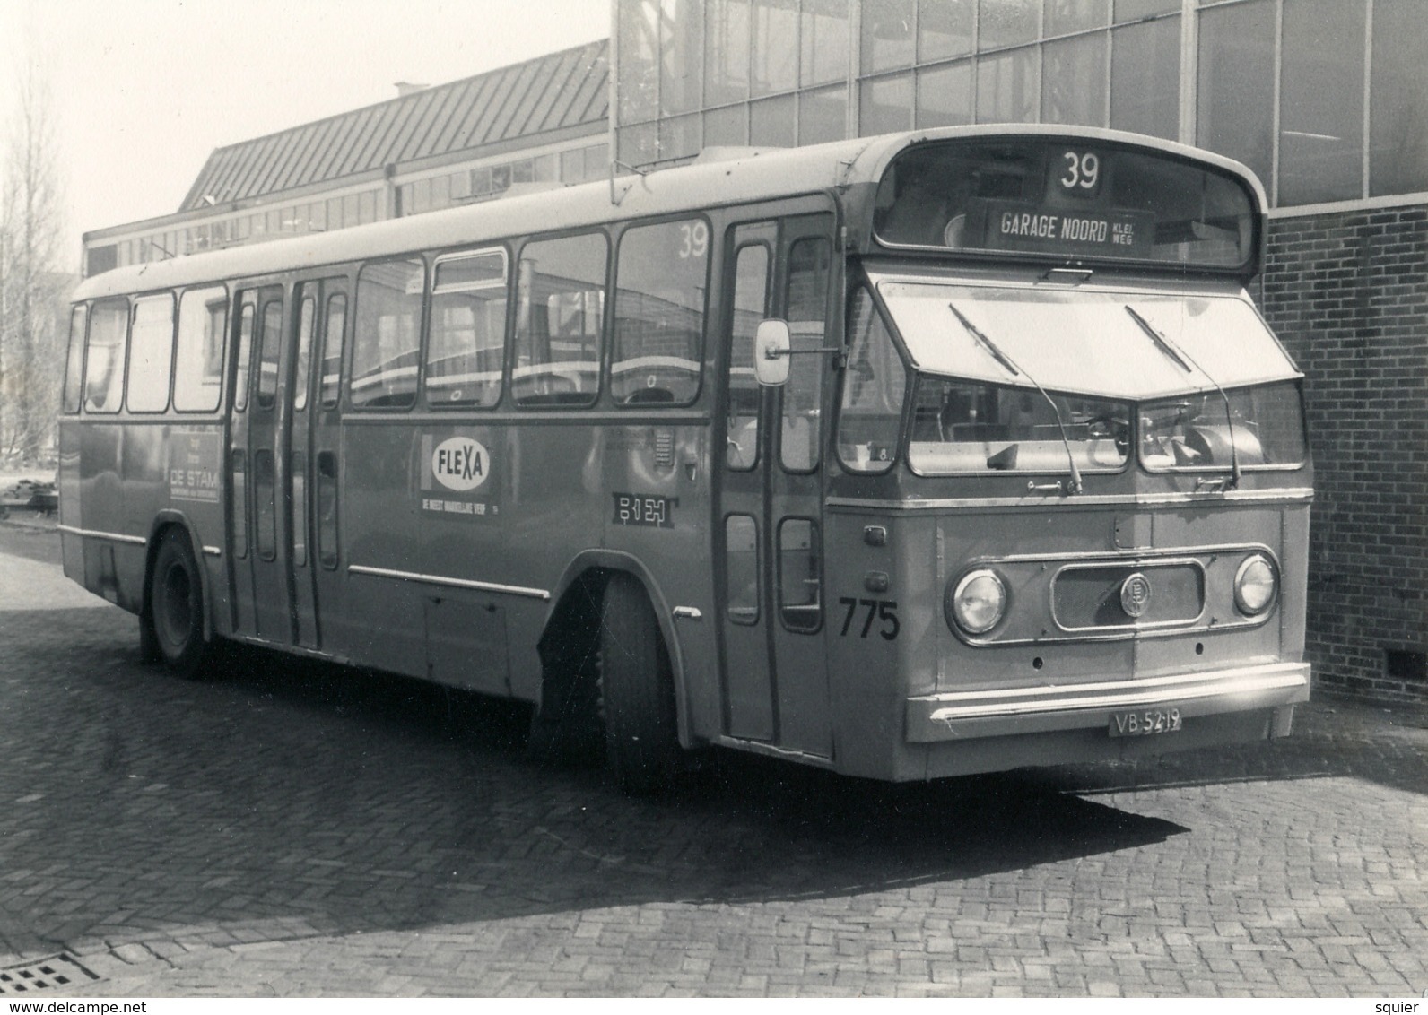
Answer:
[[[982,244],[988,250],[1144,257],[1150,254],[1154,233],[1155,216],[1147,211],[1081,211],[987,201]]]

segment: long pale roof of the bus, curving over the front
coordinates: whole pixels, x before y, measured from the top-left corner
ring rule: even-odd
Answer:
[[[705,158],[687,166],[654,170],[644,176],[621,176],[613,181],[528,193],[333,233],[308,233],[207,254],[149,261],[87,278],[73,298],[83,301],[306,270],[418,250],[494,243],[531,233],[875,184],[892,158],[910,147],[927,141],[978,137],[1071,137],[1117,141],[1152,153],[1197,160],[1242,177],[1254,191],[1255,211],[1259,213],[1265,207],[1264,187],[1245,166],[1174,141],[1058,124],[941,127],[798,148],[741,148],[734,150],[730,158]]]

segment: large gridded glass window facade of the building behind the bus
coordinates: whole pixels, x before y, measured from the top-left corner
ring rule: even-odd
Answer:
[[[1428,190],[1421,0],[620,0],[617,19],[620,60],[657,67],[621,81],[663,94],[674,50],[701,76],[701,104],[675,103],[701,131],[650,126],[673,108],[658,96],[620,104],[633,157],[693,156],[697,133],[814,144],[1065,123],[1238,158],[1278,206]]]

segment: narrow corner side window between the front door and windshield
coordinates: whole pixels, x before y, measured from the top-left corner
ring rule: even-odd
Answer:
[[[885,473],[897,457],[907,370],[865,288],[853,300],[848,341],[838,410],[838,460],[850,473]]]

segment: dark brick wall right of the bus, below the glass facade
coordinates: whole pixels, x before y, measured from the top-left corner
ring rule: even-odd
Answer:
[[[1271,220],[1262,298],[1307,375],[1315,680],[1428,702],[1428,207]]]

